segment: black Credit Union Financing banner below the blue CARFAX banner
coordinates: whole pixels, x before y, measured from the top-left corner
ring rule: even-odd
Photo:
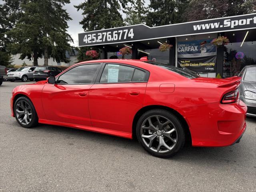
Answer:
[[[214,73],[216,69],[216,56],[178,58],[180,68],[188,68],[194,72]]]

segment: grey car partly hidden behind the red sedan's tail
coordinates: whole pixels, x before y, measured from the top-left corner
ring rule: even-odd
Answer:
[[[240,100],[247,105],[247,116],[256,117],[256,65],[245,66],[240,74]]]

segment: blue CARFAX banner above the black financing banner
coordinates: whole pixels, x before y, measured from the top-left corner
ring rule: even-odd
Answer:
[[[178,57],[216,55],[216,46],[211,44],[212,39],[178,42]]]

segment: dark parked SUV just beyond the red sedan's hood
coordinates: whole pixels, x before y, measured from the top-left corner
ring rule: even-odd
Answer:
[[[46,80],[46,78],[50,76],[56,76],[58,75],[62,70],[58,67],[54,66],[38,66],[34,70],[34,80],[35,81],[41,81]]]

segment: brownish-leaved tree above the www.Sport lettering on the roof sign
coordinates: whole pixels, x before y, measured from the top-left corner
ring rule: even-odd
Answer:
[[[190,0],[182,18],[195,21],[253,12],[256,12],[255,0]]]

